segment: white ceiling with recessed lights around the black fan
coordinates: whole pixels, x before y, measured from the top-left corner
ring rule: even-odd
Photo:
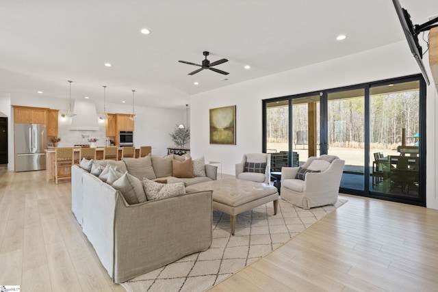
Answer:
[[[438,14],[436,0],[400,3],[413,23]],[[109,103],[131,104],[135,89],[136,105],[185,108],[192,94],[401,40],[390,0],[1,0],[0,92],[68,98],[73,80],[72,98],[102,101],[107,85]],[[203,51],[230,74],[188,75],[198,67],[178,60]]]

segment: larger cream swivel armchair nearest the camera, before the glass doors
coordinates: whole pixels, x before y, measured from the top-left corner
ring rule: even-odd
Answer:
[[[337,156],[321,155],[309,157],[300,168],[283,167],[281,198],[302,209],[335,204],[344,165],[345,161]]]

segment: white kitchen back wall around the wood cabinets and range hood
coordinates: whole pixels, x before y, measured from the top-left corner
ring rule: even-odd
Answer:
[[[68,99],[66,98],[47,98],[44,96],[10,96],[10,94],[0,94],[0,111],[13,119],[11,105],[23,105],[27,107],[48,107],[60,109],[58,118],[58,137],[61,138],[58,146],[66,147],[74,144],[88,144],[87,138],[82,135],[89,135],[98,139],[98,146],[105,145],[105,122],[99,122],[99,131],[70,131],[70,119],[62,120],[61,114],[68,109]],[[96,110],[103,109],[103,104],[96,102]],[[120,105],[107,103],[108,113],[131,114],[132,105]],[[181,109],[157,109],[152,107],[136,106],[136,116],[134,131],[135,146],[152,146],[152,153],[156,155],[166,155],[167,148],[174,146],[169,133],[175,129],[177,124],[185,123],[185,108]],[[14,124],[10,123],[9,139],[9,163],[8,170],[14,170]]]

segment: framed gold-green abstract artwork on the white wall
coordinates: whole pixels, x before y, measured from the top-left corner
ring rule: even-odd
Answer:
[[[210,144],[235,145],[235,105],[210,109]]]

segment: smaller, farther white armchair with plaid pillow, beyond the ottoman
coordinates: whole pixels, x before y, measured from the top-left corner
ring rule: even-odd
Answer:
[[[270,165],[271,155],[269,153],[244,154],[242,161],[235,165],[235,177],[245,181],[269,184]]]

